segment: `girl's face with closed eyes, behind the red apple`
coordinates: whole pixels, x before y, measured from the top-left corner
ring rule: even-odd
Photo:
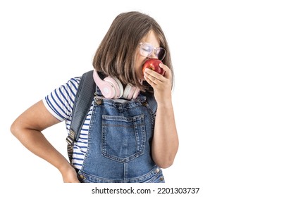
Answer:
[[[142,43],[147,42],[152,46],[158,48],[159,40],[156,38],[156,35],[153,31],[150,31],[145,37],[140,41]],[[144,74],[142,73],[142,65],[148,58],[158,58],[154,53],[151,53],[151,56],[145,57],[140,53],[140,45],[137,47],[137,58],[135,61],[135,75],[139,80],[144,80]]]

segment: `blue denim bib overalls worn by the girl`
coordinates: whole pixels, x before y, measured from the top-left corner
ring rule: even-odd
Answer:
[[[94,98],[80,182],[164,182],[161,168],[151,159],[154,113],[146,99],[142,94],[125,103]]]

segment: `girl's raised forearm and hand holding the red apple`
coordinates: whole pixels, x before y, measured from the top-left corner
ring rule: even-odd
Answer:
[[[156,165],[166,168],[173,164],[179,141],[172,105],[172,73],[166,65],[160,66],[166,71],[164,76],[146,69],[144,79],[154,88],[158,105],[151,154]]]

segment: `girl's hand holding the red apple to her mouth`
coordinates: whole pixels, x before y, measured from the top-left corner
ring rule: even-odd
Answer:
[[[149,68],[144,70],[144,80],[154,89],[154,97],[159,104],[171,102],[172,94],[172,72],[168,66],[160,63],[160,67],[165,70],[165,75],[160,75]]]

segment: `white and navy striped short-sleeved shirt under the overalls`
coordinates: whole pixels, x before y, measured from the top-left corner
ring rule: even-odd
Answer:
[[[65,121],[66,129],[69,134],[70,122],[72,120],[72,111],[75,101],[75,95],[77,93],[81,77],[75,77],[70,79],[66,84],[54,89],[51,93],[43,98],[44,106],[47,110],[54,115],[58,120]],[[88,130],[89,122],[92,116],[93,101],[87,114],[84,125],[80,132],[78,141],[74,143],[73,148],[73,166],[76,169],[81,169],[82,163],[85,158],[85,153],[88,146]]]

